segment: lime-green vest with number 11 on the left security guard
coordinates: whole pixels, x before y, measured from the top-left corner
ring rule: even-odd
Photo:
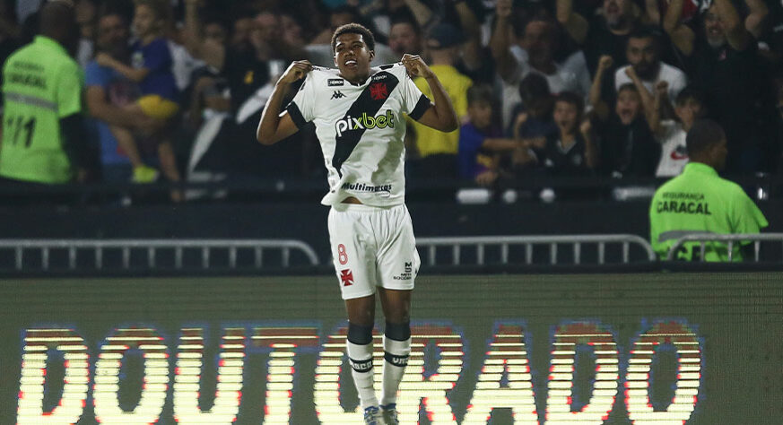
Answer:
[[[67,183],[74,169],[60,119],[82,112],[83,72],[57,41],[38,36],[3,67],[0,176]]]

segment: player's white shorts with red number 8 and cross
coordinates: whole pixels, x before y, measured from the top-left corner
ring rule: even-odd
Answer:
[[[343,299],[372,295],[376,286],[413,290],[421,262],[405,204],[336,204],[328,225]]]

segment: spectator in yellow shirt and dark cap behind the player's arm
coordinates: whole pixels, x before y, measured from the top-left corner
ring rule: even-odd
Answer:
[[[427,49],[430,52],[430,68],[457,111],[457,117],[467,114],[467,90],[473,85],[470,78],[455,68],[460,55],[463,38],[456,27],[439,23],[427,35]],[[423,78],[416,78],[416,86],[428,98],[432,98],[429,84]],[[427,178],[457,177],[457,146],[459,130],[443,133],[419,123],[413,123],[415,148],[420,160],[411,164],[413,174]]]

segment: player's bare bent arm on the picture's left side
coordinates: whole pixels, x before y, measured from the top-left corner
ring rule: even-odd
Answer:
[[[307,60],[292,62],[283,76],[274,84],[272,95],[266,100],[261,121],[258,122],[256,131],[258,142],[261,144],[277,143],[299,130],[288,111],[281,113],[283,98],[291,87],[291,83],[304,78],[312,69],[313,65]]]

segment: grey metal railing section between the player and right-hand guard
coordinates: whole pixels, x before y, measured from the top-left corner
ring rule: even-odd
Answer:
[[[606,246],[619,244],[622,250],[621,261],[623,264],[631,262],[631,246],[642,249],[647,260],[656,260],[655,252],[647,240],[636,235],[562,235],[562,236],[474,236],[474,237],[448,237],[448,238],[417,238],[416,245],[424,248],[428,265],[436,265],[438,247],[451,247],[451,265],[462,264],[462,248],[475,248],[475,264],[484,265],[488,247],[498,247],[500,255],[498,262],[502,265],[509,264],[509,253],[512,247],[524,247],[524,264],[534,264],[534,247],[549,247],[549,264],[558,264],[558,246],[570,245],[573,253],[573,264],[582,264],[582,248],[584,245],[597,247],[596,263],[603,265],[606,262]]]

